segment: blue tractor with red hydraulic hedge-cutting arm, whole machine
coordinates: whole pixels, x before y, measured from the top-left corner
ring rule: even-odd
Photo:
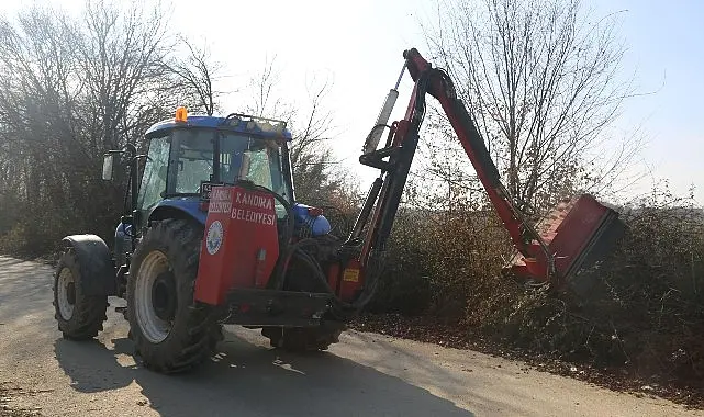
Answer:
[[[96,337],[108,297],[118,296],[126,300],[123,314],[136,353],[156,372],[202,363],[222,339],[224,324],[260,329],[271,346],[292,351],[337,342],[383,273],[426,94],[443,106],[509,230],[515,256],[504,272],[583,292],[594,281],[594,264],[624,232],[617,214],[583,194],[530,223],[501,183],[449,76],[414,48],[403,57],[401,76],[359,157],[380,174],[347,236],[331,233],[322,210],[297,201],[292,135],[282,121],[190,115],[178,108],[172,119],[146,131],[145,155],[134,144],[105,154],[103,180],[118,166],[128,167],[131,207],[115,229],[112,251],[96,235],[62,240],[54,305],[64,337]],[[413,93],[405,116],[389,125],[406,70]]]

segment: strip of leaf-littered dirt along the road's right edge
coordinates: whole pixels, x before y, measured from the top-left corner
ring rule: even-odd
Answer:
[[[704,390],[685,381],[667,381],[657,375],[644,379],[622,367],[595,367],[572,363],[546,353],[507,346],[468,330],[459,323],[439,323],[427,316],[405,317],[398,314],[362,315],[351,325],[359,331],[373,331],[393,337],[435,343],[442,347],[476,350],[506,359],[524,361],[537,370],[593,383],[617,392],[641,397],[660,397],[690,409],[704,409]]]

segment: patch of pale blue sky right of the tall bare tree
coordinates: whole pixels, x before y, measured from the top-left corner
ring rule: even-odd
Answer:
[[[704,203],[704,2],[601,1],[599,10],[618,11],[628,44],[623,67],[636,72],[641,91],[655,93],[627,102],[619,122],[642,123],[648,139],[644,162],[672,188],[699,188]],[[647,185],[647,181],[644,183]]]

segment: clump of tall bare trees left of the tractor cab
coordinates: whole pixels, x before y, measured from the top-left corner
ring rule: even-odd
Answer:
[[[26,250],[79,230],[110,241],[126,176],[101,181],[102,154],[143,145],[176,99],[200,100],[163,66],[175,61],[163,15],[158,4],[96,0],[79,19],[47,7],[0,18],[0,211],[13,213],[0,230]]]

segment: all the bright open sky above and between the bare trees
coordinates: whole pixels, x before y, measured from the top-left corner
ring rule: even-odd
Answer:
[[[46,1],[69,11],[82,4]],[[0,10],[11,13],[29,3],[4,0]],[[432,15],[434,0],[200,0],[198,7],[192,4],[174,1],[171,22],[192,40],[210,44],[213,57],[230,76],[224,89],[239,89],[273,55],[281,69],[278,92],[291,101],[305,102],[305,84],[313,76],[332,80],[327,105],[336,122],[336,151],[365,182],[370,181],[375,172],[356,162],[359,149],[398,77],[403,49],[426,49],[417,23]],[[624,71],[635,71],[640,91],[653,92],[629,100],[616,125],[623,132],[640,126],[648,142],[637,168],[652,174],[628,192],[640,193],[653,180],[669,179],[677,193],[696,185],[696,199],[704,203],[704,1],[584,0],[584,4],[599,14],[625,10],[619,13],[628,45]],[[411,87],[406,78],[395,119],[405,108]],[[224,103],[227,110],[238,111],[247,100],[241,92]]]

